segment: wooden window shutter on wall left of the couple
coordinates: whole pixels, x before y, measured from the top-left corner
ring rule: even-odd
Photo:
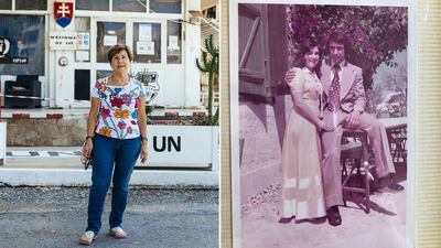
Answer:
[[[239,94],[273,103],[288,69],[286,7],[239,4]]]

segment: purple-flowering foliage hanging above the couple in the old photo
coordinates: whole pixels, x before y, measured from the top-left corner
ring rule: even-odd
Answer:
[[[299,42],[316,37],[325,47],[331,32],[338,31],[351,40],[347,60],[363,68],[365,88],[385,63],[396,67],[394,54],[407,48],[408,10],[406,7],[289,6],[288,40],[290,56]],[[323,50],[324,51],[324,50]],[[326,51],[324,51],[326,53]],[[292,60],[292,58],[291,58]]]

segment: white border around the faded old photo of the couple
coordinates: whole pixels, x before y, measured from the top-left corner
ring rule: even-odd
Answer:
[[[230,179],[232,179],[232,236],[233,248],[241,247],[240,228],[240,171],[239,171],[239,84],[238,84],[238,4],[325,4],[347,6],[342,0],[229,0],[229,107],[230,107]],[[406,190],[406,247],[416,245],[416,96],[417,96],[417,8],[411,0],[353,0],[351,6],[407,7],[408,8],[408,154]]]

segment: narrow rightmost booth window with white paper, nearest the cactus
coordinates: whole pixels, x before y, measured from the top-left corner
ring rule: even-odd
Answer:
[[[175,21],[166,22],[166,63],[181,64],[182,56],[182,25]]]

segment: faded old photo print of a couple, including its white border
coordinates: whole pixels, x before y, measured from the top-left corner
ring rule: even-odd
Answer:
[[[234,248],[413,247],[415,9],[229,1]]]

